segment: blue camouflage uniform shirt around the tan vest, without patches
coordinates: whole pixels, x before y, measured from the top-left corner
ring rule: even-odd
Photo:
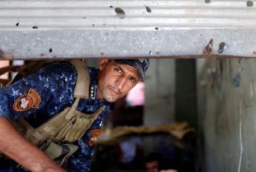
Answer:
[[[91,158],[94,153],[94,146],[90,147],[88,144],[91,137],[90,131],[100,128],[106,114],[112,110],[110,102],[104,99],[97,100],[98,69],[89,67],[89,73],[90,85],[96,87],[94,98],[88,100],[81,99],[77,110],[91,114],[96,112],[101,106],[106,106],[107,108],[93,122],[82,139],[76,141],[75,144],[79,145],[79,149],[69,157],[68,171],[90,171]],[[68,62],[57,62],[45,66],[35,74],[18,80],[11,86],[0,90],[0,115],[10,120],[24,117],[32,127],[39,127],[40,124],[46,122],[56,113],[73,104],[73,91],[76,79],[77,72],[75,67]],[[24,111],[16,111],[13,106],[15,100],[23,94],[27,94],[31,88],[39,94],[40,104],[37,107]],[[16,166],[16,162],[12,160],[0,160],[0,171],[27,171]]]

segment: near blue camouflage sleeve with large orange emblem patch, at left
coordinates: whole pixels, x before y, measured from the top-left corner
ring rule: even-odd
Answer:
[[[70,63],[52,63],[0,90],[0,116],[18,119],[38,109],[60,109],[72,102],[76,71]],[[57,107],[57,108],[54,108]]]

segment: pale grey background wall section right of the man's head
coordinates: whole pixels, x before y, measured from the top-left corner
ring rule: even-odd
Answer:
[[[175,59],[150,59],[145,79],[144,125],[174,122],[174,93]]]

